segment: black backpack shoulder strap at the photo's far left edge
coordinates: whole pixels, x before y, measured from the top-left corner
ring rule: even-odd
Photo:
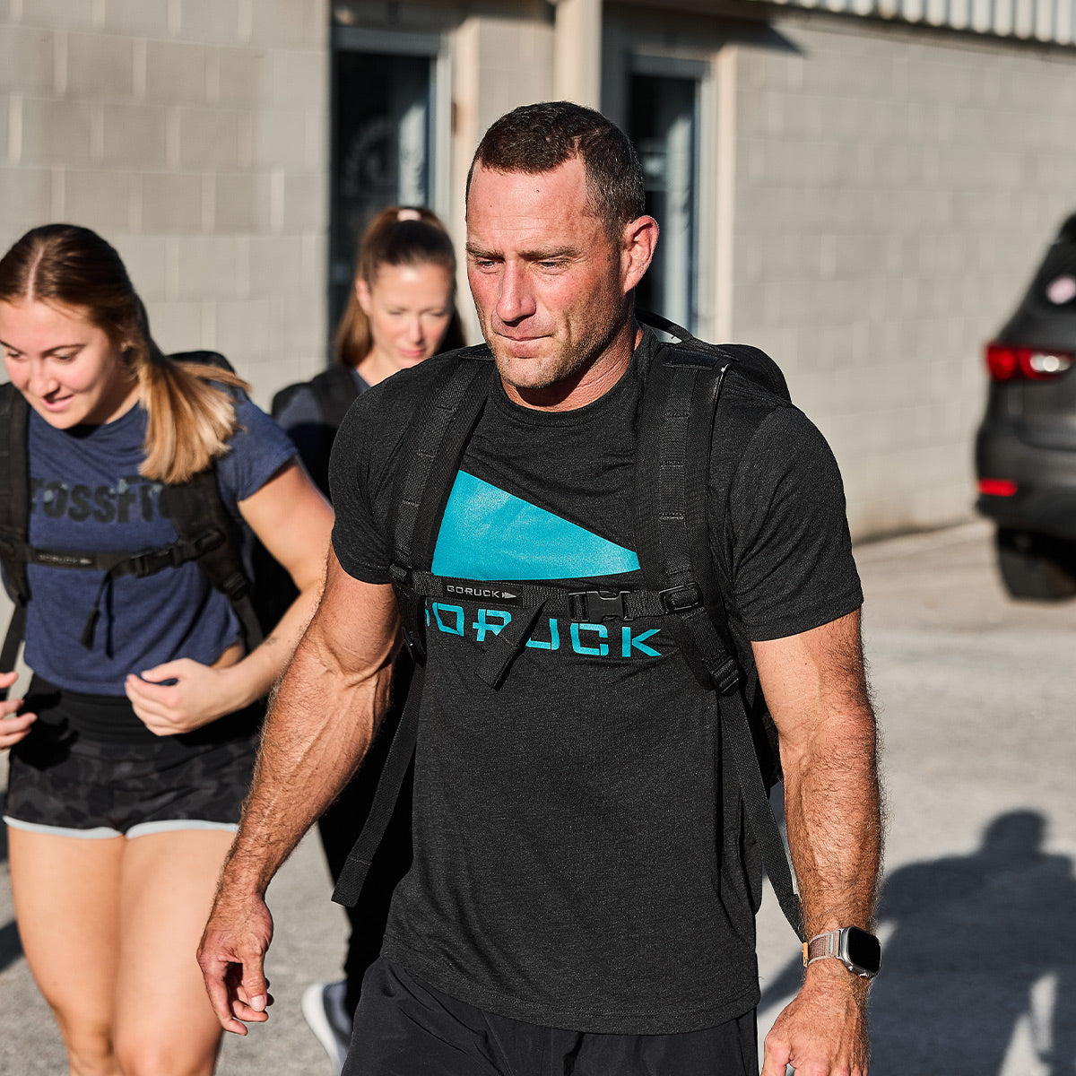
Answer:
[[[0,671],[15,667],[18,648],[26,631],[26,603],[30,585],[25,551],[29,543],[30,483],[27,468],[27,436],[30,407],[13,384],[0,385],[0,564],[4,584],[14,608],[3,648]],[[0,692],[0,699],[6,691]]]

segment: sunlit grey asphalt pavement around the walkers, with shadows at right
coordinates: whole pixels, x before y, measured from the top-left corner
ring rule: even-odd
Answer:
[[[856,561],[889,806],[872,1076],[1073,1076],[1076,603],[1006,598],[981,523],[861,544]],[[3,846],[0,875],[0,1074],[61,1074]],[[299,999],[336,972],[344,921],[310,838],[269,904],[277,1004],[268,1024],[228,1036],[217,1071],[329,1076]],[[764,1033],[801,976],[769,894],[759,934]]]

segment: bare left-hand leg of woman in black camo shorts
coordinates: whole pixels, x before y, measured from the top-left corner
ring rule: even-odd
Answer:
[[[23,951],[56,1016],[71,1076],[119,1076],[112,1022],[126,845],[119,836],[66,837],[8,827]]]

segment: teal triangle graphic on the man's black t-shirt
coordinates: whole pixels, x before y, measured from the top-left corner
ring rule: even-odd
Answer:
[[[579,579],[635,571],[639,558],[560,515],[458,471],[434,548],[434,575]]]

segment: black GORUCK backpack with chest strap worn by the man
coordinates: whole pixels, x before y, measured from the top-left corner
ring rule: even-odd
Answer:
[[[777,364],[756,348],[717,346],[656,315],[637,311],[636,316],[678,340],[662,345],[642,394],[635,492],[637,553],[646,585],[610,592],[513,582],[518,605],[511,620],[493,635],[476,672],[491,686],[499,686],[539,613],[586,622],[607,617],[667,618],[692,674],[713,692],[751,833],[785,917],[806,940],[784,843],[769,807],[768,789],[780,779],[776,730],[768,714],[754,725],[748,718],[707,518],[710,445],[727,371],[735,368],[736,376],[785,400],[788,385]],[[447,596],[444,580],[430,570],[438,521],[496,376],[484,345],[459,352],[454,373],[412,423],[405,441],[402,455],[409,462],[400,470],[394,496],[390,570],[405,641],[416,667],[373,807],[334,893],[340,904],[353,904],[358,896],[414,751],[425,674],[425,603]]]

